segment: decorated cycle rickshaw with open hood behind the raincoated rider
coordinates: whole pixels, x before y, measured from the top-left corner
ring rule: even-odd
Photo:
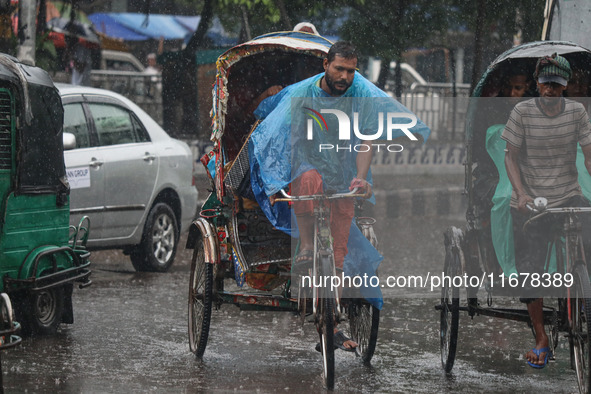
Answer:
[[[339,303],[335,292],[313,290],[308,294],[294,284],[292,239],[271,224],[252,197],[248,146],[257,125],[251,103],[269,86],[287,86],[324,71],[322,62],[331,45],[314,34],[270,33],[218,58],[212,109],[214,149],[201,159],[210,175],[212,193],[187,240],[187,248],[194,249],[189,290],[191,351],[203,357],[212,308],[222,304],[296,312],[302,322],[312,314],[320,336],[317,350],[323,356],[324,383],[330,389],[334,386],[334,325],[347,316],[352,339],[359,344],[356,353],[369,363],[377,342],[379,309],[362,297]],[[350,196],[309,196],[316,200],[341,197]],[[285,193],[282,199],[289,198]],[[334,275],[330,233],[326,234],[330,228],[324,221],[327,213],[320,211],[315,256],[322,251],[329,258],[315,258],[312,271],[313,275]],[[362,234],[376,244],[373,223],[371,218],[357,218]],[[227,278],[235,283],[224,281]],[[232,286],[237,291],[228,290]]]

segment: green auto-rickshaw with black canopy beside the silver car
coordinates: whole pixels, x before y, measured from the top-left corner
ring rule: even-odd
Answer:
[[[75,283],[90,285],[90,223],[70,226],[63,107],[42,69],[0,54],[0,292],[25,333],[73,323]],[[73,136],[70,136],[73,137]]]

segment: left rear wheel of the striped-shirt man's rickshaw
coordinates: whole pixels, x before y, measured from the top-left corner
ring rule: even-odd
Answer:
[[[458,251],[447,247],[444,272],[447,277],[459,275],[460,256]],[[445,372],[451,372],[456,358],[458,327],[460,321],[460,289],[452,283],[443,283],[441,288],[441,316],[439,333],[441,336],[441,364]]]

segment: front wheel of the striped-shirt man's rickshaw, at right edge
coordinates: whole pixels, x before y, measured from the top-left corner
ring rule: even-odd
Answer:
[[[591,361],[591,347],[589,338],[591,338],[591,285],[589,284],[589,274],[587,267],[583,262],[577,262],[574,269],[574,287],[571,288],[570,295],[570,316],[571,326],[571,346],[574,356],[575,371],[579,391],[588,393],[591,387],[591,374],[589,373],[589,362]]]

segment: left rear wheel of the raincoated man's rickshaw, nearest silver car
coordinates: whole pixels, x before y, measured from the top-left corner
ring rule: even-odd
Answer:
[[[207,346],[212,301],[213,264],[205,262],[203,243],[197,242],[189,283],[189,348],[199,358]]]

